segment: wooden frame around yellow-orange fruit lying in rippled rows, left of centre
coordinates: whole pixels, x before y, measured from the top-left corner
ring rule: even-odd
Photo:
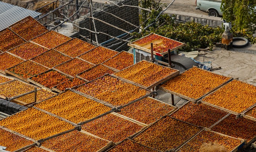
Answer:
[[[74,90],[74,89],[65,89],[65,91],[67,91],[67,90],[69,90],[69,91],[71,91],[71,92],[74,92],[74,93],[77,93],[77,94],[79,94],[79,95],[81,95],[81,96],[84,96],[83,94],[81,94],[80,92],[77,92],[77,91]],[[65,92],[65,91],[64,91],[64,92]],[[60,95],[60,94],[62,94],[62,93],[64,93],[64,92],[58,93],[58,94],[56,94],[56,95],[54,95],[54,96],[52,96],[52,97],[50,97],[50,98],[47,98],[47,99],[45,99],[45,100],[54,98],[55,96],[58,96],[58,95]],[[84,97],[88,98],[87,96],[84,96]],[[89,99],[91,99],[91,98],[89,98]],[[42,100],[41,102],[44,102],[45,100]],[[92,100],[93,100],[93,99],[92,99]],[[94,100],[94,101],[96,101],[96,100]],[[41,103],[41,102],[38,102],[38,103]],[[96,102],[98,102],[98,101],[96,101]],[[33,103],[33,104],[32,104],[33,108],[38,109],[38,110],[40,110],[40,111],[42,111],[42,112],[44,112],[44,113],[47,113],[47,114],[49,114],[49,115],[51,115],[51,116],[54,116],[54,117],[56,117],[56,118],[59,118],[59,119],[61,119],[61,120],[64,120],[65,122],[71,123],[71,124],[74,125],[74,126],[83,125],[83,124],[85,124],[85,123],[88,123],[88,122],[90,122],[90,121],[93,121],[93,120],[98,119],[98,118],[100,118],[100,117],[102,117],[102,116],[105,116],[105,115],[107,115],[107,114],[109,114],[109,113],[111,113],[111,112],[115,112],[115,111],[116,111],[116,108],[115,108],[115,107],[110,107],[110,108],[112,108],[112,109],[109,110],[108,112],[102,113],[101,115],[98,115],[98,116],[96,116],[96,117],[94,117],[94,118],[91,118],[91,119],[88,119],[88,120],[85,120],[85,121],[82,121],[82,122],[79,122],[79,123],[74,123],[74,122],[71,122],[70,120],[67,120],[67,119],[61,117],[61,116],[55,115],[55,114],[53,114],[53,113],[51,113],[51,112],[48,112],[48,111],[46,111],[46,110],[43,110],[43,109],[40,109],[40,108],[35,107],[34,105],[35,105],[35,104],[38,104],[38,103]],[[101,102],[99,102],[99,103],[101,103]],[[103,104],[103,103],[102,103],[102,104]],[[103,104],[103,105],[104,105],[104,104]],[[105,106],[108,106],[108,105],[105,105]],[[108,106],[108,107],[109,107],[109,106]]]

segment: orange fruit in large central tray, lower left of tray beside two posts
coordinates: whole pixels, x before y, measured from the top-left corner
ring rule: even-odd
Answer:
[[[111,76],[86,83],[77,90],[116,106],[124,105],[147,94],[146,90]]]

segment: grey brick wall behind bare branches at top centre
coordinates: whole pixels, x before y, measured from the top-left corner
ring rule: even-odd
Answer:
[[[138,6],[138,0],[118,0],[115,3],[118,4],[119,6],[122,4]],[[136,27],[131,26],[130,24],[127,24],[124,21],[117,19],[116,17],[112,16],[111,14],[104,13],[103,11],[112,13],[115,16],[118,16],[121,19],[124,19],[136,26],[138,26],[140,24],[139,23],[139,10],[137,8],[132,8],[132,7],[120,7],[119,8],[117,6],[114,6],[113,4],[104,4],[100,9],[93,11],[93,17],[103,20],[104,22],[112,24],[113,26],[119,27],[126,31],[130,31],[130,30],[134,30]],[[90,16],[90,14],[86,14],[86,16]],[[79,19],[75,20],[74,23],[80,27],[86,27],[87,29],[90,28],[90,19],[86,18],[86,17],[80,17]],[[100,21],[95,20],[95,24],[96,24],[97,32],[100,31],[100,32],[108,33],[111,36],[119,36],[121,34],[124,34],[123,31],[118,30],[114,27],[111,27],[111,26],[109,26],[105,23],[102,23]],[[93,24],[91,25],[91,28],[94,31]],[[87,30],[79,29],[75,26],[74,26],[74,31],[79,32],[79,34],[81,34],[83,36],[90,35],[90,33]],[[104,34],[98,34],[97,37],[98,37],[99,43],[102,43],[102,42],[105,42],[106,40],[112,39],[111,37],[108,37]],[[93,36],[93,41],[95,41],[95,36]]]

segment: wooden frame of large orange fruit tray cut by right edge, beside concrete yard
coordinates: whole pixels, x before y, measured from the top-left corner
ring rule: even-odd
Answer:
[[[232,80],[232,81],[233,81],[233,80]],[[230,81],[230,82],[232,82],[232,81]],[[238,81],[239,81],[239,80],[238,80]],[[230,82],[228,82],[228,83],[230,83]],[[241,81],[240,81],[240,82],[241,82]],[[245,83],[245,82],[243,82],[243,83]],[[225,85],[224,85],[224,86],[225,86]],[[221,86],[219,89],[221,89],[221,88],[224,87],[224,86]],[[254,86],[254,85],[252,85],[252,86]],[[256,87],[256,86],[255,86],[255,87]],[[207,96],[209,96],[209,95],[215,93],[216,91],[217,91],[217,90],[215,90],[214,92],[209,93]],[[204,98],[207,97],[207,96],[204,96]],[[199,104],[199,103],[204,103],[205,105],[213,106],[213,107],[215,107],[215,108],[218,108],[218,109],[224,110],[224,111],[226,111],[226,112],[232,113],[233,115],[237,115],[236,119],[239,119],[239,118],[241,118],[241,117],[243,116],[243,117],[245,117],[245,118],[247,118],[247,119],[256,121],[256,118],[253,118],[253,117],[248,116],[248,115],[245,114],[245,113],[248,113],[250,110],[252,110],[252,109],[255,107],[256,103],[254,103],[254,104],[253,104],[252,106],[250,106],[249,108],[243,110],[242,112],[238,113],[238,112],[234,112],[234,111],[232,111],[232,110],[225,109],[225,108],[223,108],[223,107],[220,107],[220,106],[213,105],[213,104],[211,104],[211,103],[205,102],[205,101],[203,101],[204,98],[201,99],[200,101],[198,101],[197,103],[198,103],[198,104]]]

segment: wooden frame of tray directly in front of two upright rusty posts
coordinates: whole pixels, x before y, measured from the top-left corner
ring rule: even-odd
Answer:
[[[152,63],[152,62],[149,62],[149,61],[147,61],[147,60],[141,60],[140,62]],[[130,68],[130,67],[132,67],[132,66],[134,66],[134,65],[137,65],[137,64],[140,63],[140,62],[137,62],[137,63],[135,63],[135,64],[133,64],[133,65],[131,65],[131,66],[128,66],[128,67],[126,67],[125,69],[128,69],[128,68]],[[156,64],[156,63],[153,63],[153,64]],[[156,65],[157,65],[157,64],[156,64]],[[164,67],[164,68],[172,69],[172,68],[170,68],[170,67],[166,67],[166,66],[162,66],[162,65],[159,65],[159,66]],[[122,72],[122,71],[125,70],[125,69],[120,70],[120,72]],[[176,69],[173,69],[173,70],[176,70]],[[118,72],[117,72],[117,73],[118,73]],[[153,87],[155,87],[155,86],[157,86],[157,85],[159,85],[159,84],[161,84],[161,83],[163,83],[163,82],[165,82],[165,81],[171,79],[172,77],[175,77],[175,76],[179,75],[179,73],[180,73],[180,71],[179,71],[179,70],[176,70],[176,72],[174,72],[174,73],[172,73],[172,74],[170,74],[170,75],[167,75],[166,77],[164,77],[163,79],[160,79],[159,81],[157,81],[157,82],[155,82],[155,83],[152,83],[150,86],[143,86],[143,85],[140,85],[140,84],[138,84],[138,83],[136,83],[136,82],[132,82],[131,80],[127,80],[127,79],[122,78],[122,77],[119,77],[119,76],[117,76],[117,77],[118,77],[119,79],[125,80],[125,81],[127,81],[127,82],[129,82],[129,83],[132,83],[132,84],[134,84],[134,85],[140,86],[140,87],[142,87],[142,88],[145,88],[145,89],[152,89]],[[116,74],[116,73],[114,73],[113,75],[115,75],[115,74]],[[116,75],[115,75],[115,76],[116,76]]]

